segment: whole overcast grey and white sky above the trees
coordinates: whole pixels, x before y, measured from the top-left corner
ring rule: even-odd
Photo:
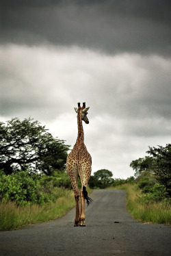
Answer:
[[[77,103],[92,172],[134,175],[170,143],[170,1],[1,0],[0,118],[34,118],[72,147]]]

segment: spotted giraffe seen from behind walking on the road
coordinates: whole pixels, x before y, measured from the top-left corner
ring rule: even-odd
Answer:
[[[75,193],[75,223],[74,227],[85,227],[85,199],[88,205],[92,202],[92,199],[88,197],[86,187],[88,180],[90,179],[92,170],[92,157],[88,153],[88,150],[84,144],[83,136],[83,124],[82,120],[88,124],[89,120],[87,117],[88,110],[90,107],[86,107],[86,103],[83,103],[83,107],[78,103],[78,108],[75,107],[77,112],[77,124],[78,124],[78,136],[73,150],[69,153],[66,159],[66,171],[70,177],[73,191]],[[81,192],[77,185],[78,177],[81,179]],[[79,198],[81,199],[81,209],[79,209]]]

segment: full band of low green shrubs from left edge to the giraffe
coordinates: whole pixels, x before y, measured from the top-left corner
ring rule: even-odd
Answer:
[[[63,189],[61,189],[61,188]],[[43,205],[55,202],[64,196],[65,188],[70,188],[67,173],[58,175],[29,175],[26,171],[5,175],[0,172],[0,201],[14,201],[17,205],[25,206],[33,203]]]

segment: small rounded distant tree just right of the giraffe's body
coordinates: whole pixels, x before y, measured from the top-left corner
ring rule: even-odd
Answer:
[[[94,180],[98,181],[97,185],[99,188],[107,188],[112,182],[111,177],[113,173],[110,170],[102,169],[94,172]]]

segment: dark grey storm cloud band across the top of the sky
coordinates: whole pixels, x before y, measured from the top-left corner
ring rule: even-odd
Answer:
[[[3,1],[1,43],[170,55],[170,1]]]

